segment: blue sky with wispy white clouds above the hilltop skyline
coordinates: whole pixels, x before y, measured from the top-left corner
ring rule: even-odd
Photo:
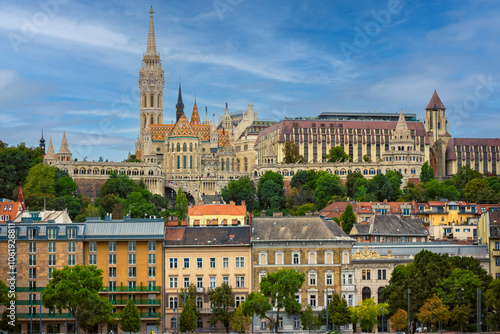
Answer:
[[[326,111],[423,119],[434,90],[453,137],[500,132],[500,2],[0,1],[0,140],[122,161],[139,134],[138,72],[154,9],[166,124],[225,103],[259,119]]]

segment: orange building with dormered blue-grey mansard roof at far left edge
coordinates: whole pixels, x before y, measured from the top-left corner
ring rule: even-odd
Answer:
[[[83,264],[83,233],[84,224],[37,223],[27,217],[0,226],[0,280],[9,286],[8,279],[15,276],[16,314],[21,323],[16,332],[74,331],[75,319],[67,312],[59,314],[41,306],[41,292],[54,269]],[[9,249],[9,244],[15,248]],[[11,259],[8,250],[15,253]]]

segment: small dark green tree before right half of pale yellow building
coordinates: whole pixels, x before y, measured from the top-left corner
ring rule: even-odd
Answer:
[[[234,307],[233,289],[227,284],[222,284],[215,289],[211,289],[208,292],[208,298],[212,308],[212,316],[209,322],[215,325],[220,321],[226,328],[226,333],[229,333],[231,319],[233,318],[233,311],[231,310]]]

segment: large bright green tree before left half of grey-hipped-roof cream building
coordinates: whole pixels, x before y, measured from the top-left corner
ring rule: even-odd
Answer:
[[[243,303],[243,314],[256,314],[261,319],[268,319],[275,333],[278,333],[277,319],[283,309],[287,314],[300,313],[302,305],[295,299],[295,294],[304,281],[305,274],[294,269],[280,269],[268,273],[260,282],[260,291],[250,293]],[[275,317],[274,312],[267,313],[273,306],[276,309]]]

